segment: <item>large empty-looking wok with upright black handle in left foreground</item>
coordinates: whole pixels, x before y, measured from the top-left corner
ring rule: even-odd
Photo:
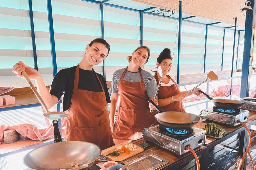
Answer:
[[[53,127],[54,143],[38,147],[27,153],[23,158],[24,165],[31,170],[86,170],[100,156],[100,147],[93,143],[80,141],[60,142],[58,121],[53,121]],[[71,163],[79,163],[80,166],[72,168],[70,166]]]

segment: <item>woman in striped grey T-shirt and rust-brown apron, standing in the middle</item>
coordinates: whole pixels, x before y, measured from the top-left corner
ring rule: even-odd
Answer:
[[[110,88],[110,126],[115,144],[139,139],[144,128],[157,123],[156,112],[150,114],[147,101],[154,98],[156,84],[152,74],[142,69],[149,56],[149,48],[140,46],[127,57],[128,67],[114,72]],[[119,96],[120,105],[114,124]]]

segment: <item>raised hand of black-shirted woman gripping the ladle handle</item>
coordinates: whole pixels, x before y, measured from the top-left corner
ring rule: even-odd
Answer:
[[[26,73],[31,80],[38,80],[40,78],[40,73],[36,69],[31,68],[24,64],[22,61],[19,61],[12,67],[12,72],[16,73],[17,76],[23,78],[21,72],[26,70]]]

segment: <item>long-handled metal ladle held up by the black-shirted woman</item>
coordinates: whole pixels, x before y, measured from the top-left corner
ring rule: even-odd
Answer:
[[[44,117],[53,120],[53,119],[61,119],[61,118],[65,118],[65,117],[69,116],[69,114],[66,114],[66,113],[63,113],[63,112],[50,112],[49,109],[47,108],[46,104],[44,103],[43,99],[41,98],[40,94],[36,90],[35,86],[30,81],[30,79],[29,79],[27,73],[25,72],[25,70],[22,71],[21,74],[22,74],[23,78],[26,80],[26,82],[29,84],[30,88],[32,89],[32,91],[36,95],[37,99],[39,100],[39,102],[43,106],[44,110],[46,111],[46,113],[44,113]]]

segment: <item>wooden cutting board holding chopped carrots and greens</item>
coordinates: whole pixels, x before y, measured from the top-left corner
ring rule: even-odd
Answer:
[[[114,150],[116,150],[116,148],[117,147],[119,147],[119,146],[121,146],[121,145],[126,145],[126,144],[133,144],[133,143],[131,143],[131,142],[123,142],[123,143],[120,143],[120,144],[118,144],[118,145],[115,145],[115,146],[112,146],[112,147],[110,147],[110,148],[107,148],[107,149],[105,149],[105,150],[102,150],[102,152],[101,152],[101,154],[103,155],[103,156],[106,156],[107,154],[109,154],[109,153],[111,153],[111,152],[113,152]],[[133,144],[134,145],[134,144]],[[138,153],[140,153],[140,152],[143,152],[143,148],[142,147],[140,147],[140,146],[138,146],[138,145],[136,145],[136,149],[137,150],[135,150],[135,151],[131,151],[130,153],[122,153],[122,152],[120,152],[120,155],[119,156],[106,156],[106,157],[108,157],[110,160],[112,160],[112,161],[123,161],[123,160],[125,160],[125,159],[127,159],[127,158],[130,158],[130,157],[132,157],[132,156],[134,156],[134,155],[137,155]]]

